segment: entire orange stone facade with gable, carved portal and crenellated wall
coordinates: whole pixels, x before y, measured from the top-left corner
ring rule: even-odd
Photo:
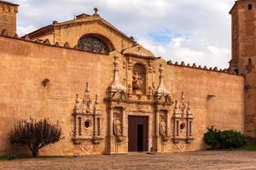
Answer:
[[[50,156],[201,150],[207,127],[244,133],[244,76],[156,58],[95,11],[0,36],[0,155],[28,153],[8,135],[30,116],[60,122]]]

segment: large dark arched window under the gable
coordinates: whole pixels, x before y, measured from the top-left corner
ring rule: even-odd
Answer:
[[[103,41],[100,37],[93,35],[84,35],[80,37],[78,48],[84,51],[98,54],[109,54],[111,50],[111,47],[108,45],[108,43]]]

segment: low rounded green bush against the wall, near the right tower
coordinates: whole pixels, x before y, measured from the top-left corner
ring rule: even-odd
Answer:
[[[204,141],[212,146],[212,149],[240,148],[246,144],[246,138],[240,132],[234,130],[219,131],[214,127],[208,127],[204,134]]]

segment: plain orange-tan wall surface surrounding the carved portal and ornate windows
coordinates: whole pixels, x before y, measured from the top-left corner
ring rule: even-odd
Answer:
[[[106,138],[96,145],[90,142],[73,144],[72,114],[76,94],[83,97],[85,83],[89,82],[92,100],[95,95],[99,96],[102,136],[108,135],[108,115],[103,99],[113,81],[115,53],[92,54],[11,37],[0,37],[0,49],[0,155],[14,153],[15,148],[8,143],[9,132],[16,121],[29,119],[30,116],[36,119],[47,117],[51,122],[60,122],[65,137],[61,142],[41,150],[41,155],[106,153]],[[119,63],[124,62],[125,58],[120,54]],[[195,140],[185,146],[172,144],[169,140],[164,151],[203,149],[202,136],[210,126],[243,132],[244,77],[182,65],[167,65],[162,59],[154,59],[152,80],[156,86],[159,84],[157,70],[160,64],[165,68],[165,85],[172,99],[180,99],[184,92],[185,99],[191,102],[195,118]],[[122,65],[119,69],[120,75],[125,75]],[[46,87],[42,85],[45,78],[49,79]],[[22,150],[21,153],[27,152]]]

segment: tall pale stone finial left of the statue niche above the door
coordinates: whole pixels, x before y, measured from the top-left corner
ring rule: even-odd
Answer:
[[[118,57],[114,56],[114,61],[113,61],[113,82],[109,86],[109,91],[110,92],[116,92],[116,91],[126,91],[125,86],[121,82],[119,82],[119,61],[117,60]]]

